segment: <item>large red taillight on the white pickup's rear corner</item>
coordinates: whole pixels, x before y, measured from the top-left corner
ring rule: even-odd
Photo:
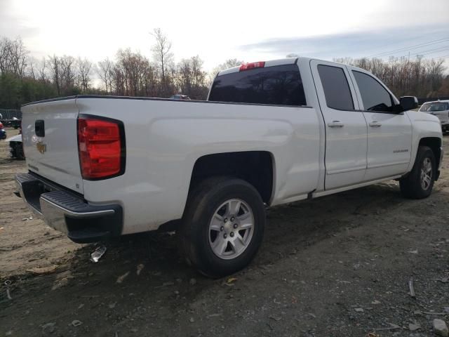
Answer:
[[[83,179],[116,176],[122,167],[120,126],[116,121],[79,117],[78,151]]]

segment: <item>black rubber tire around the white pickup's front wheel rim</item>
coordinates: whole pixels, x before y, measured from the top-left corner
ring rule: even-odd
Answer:
[[[422,186],[421,171],[423,169],[424,161],[430,161],[431,164],[431,178],[427,188]],[[415,164],[412,171],[407,176],[399,180],[401,193],[403,197],[410,199],[423,199],[429,197],[434,187],[436,174],[436,160],[434,152],[430,147],[420,146],[416,154]]]

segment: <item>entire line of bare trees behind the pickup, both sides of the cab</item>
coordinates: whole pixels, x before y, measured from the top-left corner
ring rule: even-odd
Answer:
[[[30,55],[22,39],[0,37],[0,109],[19,109],[32,101],[81,93],[161,98],[182,93],[204,100],[217,72],[243,63],[226,60],[207,73],[199,55],[175,62],[172,44],[161,29],[151,34],[151,58],[127,48],[119,49],[113,59],[96,63],[70,55],[49,55],[38,60]],[[422,56],[415,60],[335,60],[373,72],[398,96],[449,96],[443,60],[425,60]]]

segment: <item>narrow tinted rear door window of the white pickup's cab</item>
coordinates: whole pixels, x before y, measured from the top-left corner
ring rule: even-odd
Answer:
[[[354,110],[351,90],[342,68],[319,65],[318,72],[328,107],[338,110]]]

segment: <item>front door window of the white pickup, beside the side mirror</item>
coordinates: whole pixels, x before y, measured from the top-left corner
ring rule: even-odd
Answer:
[[[352,71],[362,96],[363,107],[368,111],[392,112],[394,103],[389,92],[373,77]]]

